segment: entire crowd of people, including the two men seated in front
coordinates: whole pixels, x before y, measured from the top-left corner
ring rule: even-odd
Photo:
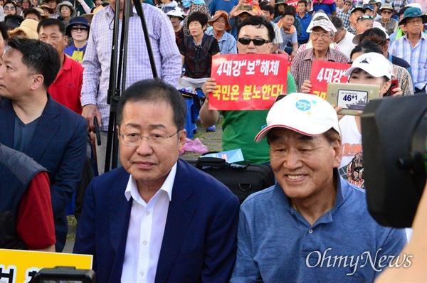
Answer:
[[[312,64],[351,64],[348,82],[379,87],[380,97],[426,95],[426,3],[143,2],[159,78],[132,7],[115,122],[120,168],[104,172],[124,1],[116,19],[115,0],[0,0],[0,248],[62,252],[76,193],[74,252],[93,255],[98,282],[373,282],[406,234],[369,215],[360,117],[312,95]],[[285,98],[270,110],[209,109],[214,56],[271,53],[291,58]],[[204,92],[201,124],[222,117],[223,150],[268,164],[275,186],[240,206],[179,159],[181,88]],[[376,260],[321,268],[327,252]]]

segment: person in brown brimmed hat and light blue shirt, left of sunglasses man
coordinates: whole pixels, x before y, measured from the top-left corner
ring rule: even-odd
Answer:
[[[212,2],[211,2],[212,3]],[[272,7],[273,8],[273,7]],[[214,36],[218,41],[219,52],[224,54],[236,54],[236,39],[231,36],[229,31],[231,26],[228,22],[228,14],[226,11],[216,11],[213,18],[208,21],[209,25],[213,27],[210,31],[207,31],[208,36]]]

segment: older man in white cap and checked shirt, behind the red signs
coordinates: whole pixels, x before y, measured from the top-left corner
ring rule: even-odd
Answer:
[[[324,60],[330,62],[347,63],[346,55],[340,53],[330,44],[334,41],[335,31],[337,29],[329,20],[313,21],[310,27],[311,39],[313,48],[298,52],[295,58],[292,59],[290,73],[292,73],[297,85],[298,92],[310,92],[310,73],[313,60]],[[302,84],[310,85],[305,91],[302,89]]]

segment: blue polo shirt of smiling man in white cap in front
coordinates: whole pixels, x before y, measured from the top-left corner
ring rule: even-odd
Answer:
[[[313,225],[278,183],[246,198],[230,282],[374,282],[406,244],[405,230],[376,223],[365,192],[336,169],[334,176],[339,178],[334,207]]]

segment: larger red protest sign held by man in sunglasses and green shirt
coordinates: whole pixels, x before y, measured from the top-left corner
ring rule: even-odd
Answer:
[[[287,54],[229,54],[212,58],[210,110],[267,110],[286,93]]]

